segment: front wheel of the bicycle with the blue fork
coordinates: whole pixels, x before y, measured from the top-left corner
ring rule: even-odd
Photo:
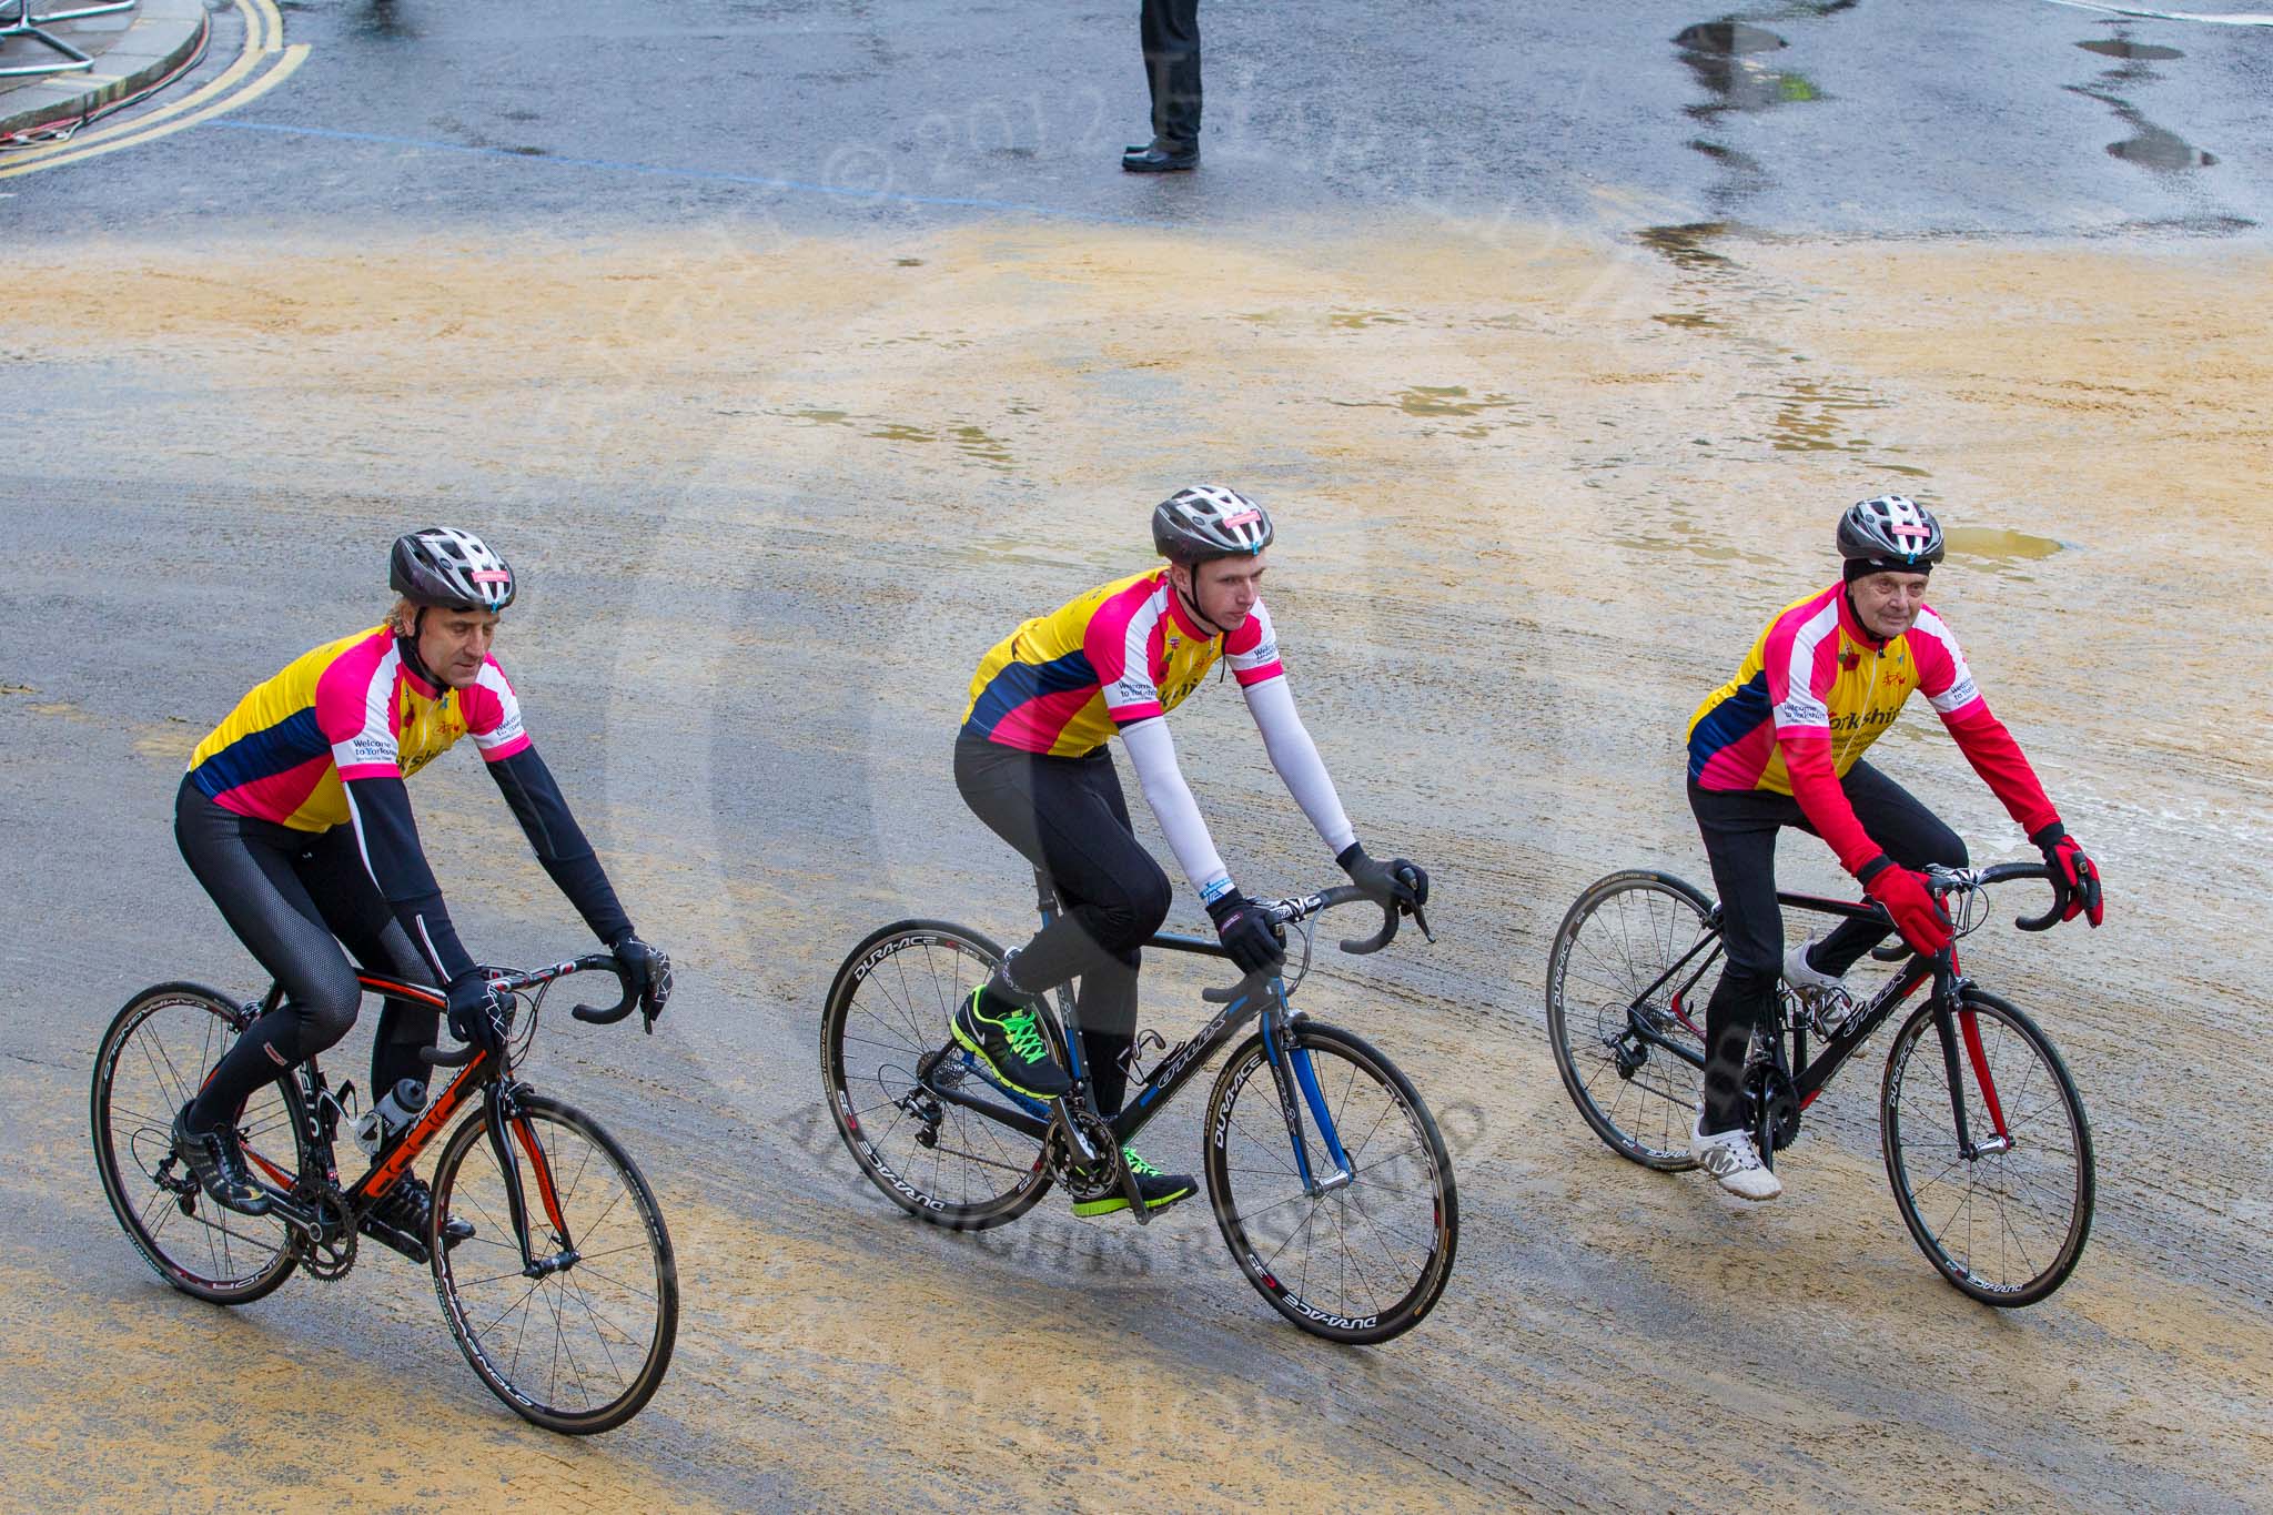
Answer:
[[[1334,1342],[1384,1342],[1421,1324],[1452,1274],[1452,1158],[1414,1086],[1362,1038],[1296,1020],[1293,1047],[1316,1070],[1350,1183],[1323,1195],[1305,1188],[1255,1033],[1207,1097],[1207,1195],[1239,1272],[1280,1315]],[[1300,1106],[1312,1177],[1327,1179],[1334,1158],[1307,1099]]]

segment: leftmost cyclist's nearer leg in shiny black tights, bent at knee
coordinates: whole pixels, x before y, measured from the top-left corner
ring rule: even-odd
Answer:
[[[236,940],[284,986],[284,1002],[236,1038],[191,1099],[189,1124],[209,1131],[261,1083],[345,1036],[364,990],[298,872],[314,836],[227,811],[189,779],[173,836]]]

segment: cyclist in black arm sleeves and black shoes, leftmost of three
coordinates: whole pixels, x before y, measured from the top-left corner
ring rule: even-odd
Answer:
[[[450,1029],[498,1049],[502,999],[450,924],[411,820],[405,779],[471,736],[539,861],[632,974],[648,1008],[668,961],[632,931],[607,872],[521,725],[489,654],[514,570],[450,527],[396,541],[389,620],[325,643],[259,684],[198,743],[175,797],[175,840],[198,884],[284,1002],[245,1027],[175,1120],[175,1149],[220,1204],[259,1215],[236,1118],[245,1097],[355,1024],[366,970],[446,990]],[[370,1099],[425,1081],[439,1015],[389,999],[370,1052]],[[407,1179],[366,1229],[423,1258],[425,1183]]]

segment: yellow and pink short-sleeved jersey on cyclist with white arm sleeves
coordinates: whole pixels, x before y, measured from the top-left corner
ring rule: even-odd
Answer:
[[[1182,704],[1216,659],[1241,686],[1284,672],[1259,600],[1237,631],[1209,636],[1177,602],[1166,568],[1114,579],[1027,620],[980,659],[964,731],[1086,756],[1121,727]]]

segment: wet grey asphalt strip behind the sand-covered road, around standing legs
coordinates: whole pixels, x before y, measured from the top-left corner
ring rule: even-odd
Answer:
[[[284,89],[9,184],[7,234],[1418,207],[2062,236],[2248,234],[2273,209],[2273,30],[2053,0],[1209,7],[1207,168],[1171,182],[1114,166],[1146,134],[1132,0],[282,9],[309,45]]]

